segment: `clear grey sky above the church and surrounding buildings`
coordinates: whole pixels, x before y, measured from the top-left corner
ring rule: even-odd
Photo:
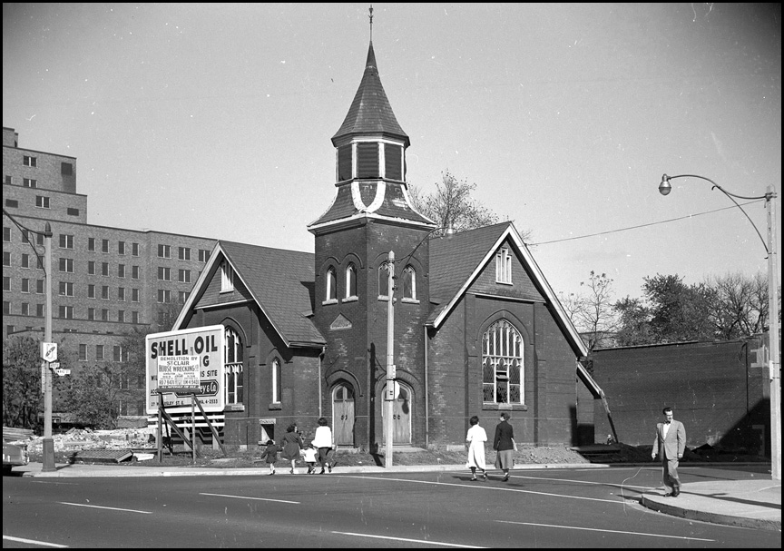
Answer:
[[[368,7],[4,3],[3,125],[77,158],[91,224],[312,252]],[[657,274],[767,275],[764,201],[738,200],[749,220],[711,182],[658,185],[773,186],[780,225],[779,4],[373,9],[407,181],[475,183],[556,294],[591,271],[617,299]]]

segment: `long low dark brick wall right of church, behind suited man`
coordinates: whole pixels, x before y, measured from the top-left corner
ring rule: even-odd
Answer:
[[[673,408],[686,428],[687,446],[769,449],[767,366],[760,339],[699,342],[593,353],[593,378],[604,390],[618,438],[652,445],[662,408]],[[596,439],[612,431],[596,408]],[[756,428],[755,428],[756,426]]]

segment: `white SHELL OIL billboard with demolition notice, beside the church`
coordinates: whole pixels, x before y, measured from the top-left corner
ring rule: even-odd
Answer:
[[[158,411],[160,389],[198,389],[206,412],[223,411],[223,359],[226,330],[222,325],[153,333],[145,339],[147,414]],[[171,413],[191,411],[191,394],[166,392],[163,405]],[[168,409],[167,409],[168,410]]]

